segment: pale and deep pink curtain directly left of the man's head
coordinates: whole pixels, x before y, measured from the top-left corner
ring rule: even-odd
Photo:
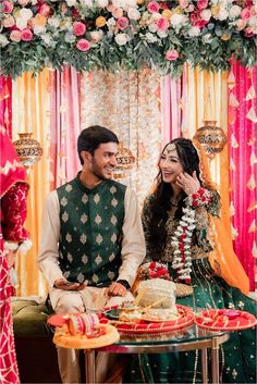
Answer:
[[[51,189],[75,177],[81,165],[76,140],[81,132],[81,76],[72,67],[50,73]]]

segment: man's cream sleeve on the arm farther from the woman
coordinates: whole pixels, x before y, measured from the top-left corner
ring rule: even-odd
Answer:
[[[63,278],[59,267],[58,241],[60,236],[59,201],[57,191],[51,191],[47,197],[42,212],[41,238],[38,255],[38,265],[49,287],[58,278]]]

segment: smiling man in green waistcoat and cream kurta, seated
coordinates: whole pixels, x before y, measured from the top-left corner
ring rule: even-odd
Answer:
[[[105,127],[82,131],[82,171],[48,196],[38,263],[57,313],[133,299],[130,288],[145,257],[145,241],[135,194],[111,179],[118,144]],[[58,359],[63,383],[79,383],[75,351],[58,348]]]

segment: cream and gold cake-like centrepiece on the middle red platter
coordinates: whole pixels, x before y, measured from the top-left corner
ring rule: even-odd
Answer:
[[[136,305],[156,309],[170,309],[176,313],[175,284],[163,278],[150,278],[139,283]]]

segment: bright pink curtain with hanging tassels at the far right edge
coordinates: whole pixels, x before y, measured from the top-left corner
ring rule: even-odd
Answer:
[[[234,250],[255,288],[257,67],[232,65],[229,85],[229,153]]]

